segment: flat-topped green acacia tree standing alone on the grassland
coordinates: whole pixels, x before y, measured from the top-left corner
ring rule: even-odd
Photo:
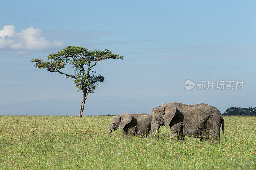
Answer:
[[[80,46],[68,46],[57,53],[48,55],[46,60],[33,59],[35,68],[44,69],[52,73],[60,73],[66,78],[72,78],[78,91],[83,92],[80,112],[77,117],[82,117],[84,104],[88,93],[93,93],[98,83],[104,82],[102,75],[94,75],[93,67],[101,60],[123,58],[121,55],[112,53],[105,49],[92,51]],[[73,68],[73,74],[64,73],[66,64]]]

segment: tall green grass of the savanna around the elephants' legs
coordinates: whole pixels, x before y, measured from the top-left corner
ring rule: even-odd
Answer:
[[[224,116],[225,144],[123,137],[112,116],[0,116],[1,169],[256,169],[256,117]]]

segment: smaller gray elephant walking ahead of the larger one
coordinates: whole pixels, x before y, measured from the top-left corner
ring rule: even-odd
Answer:
[[[109,125],[108,136],[111,137],[111,132],[114,129],[123,129],[124,135],[148,135],[151,130],[151,115],[143,114],[130,114],[124,113],[121,115],[114,116]]]

